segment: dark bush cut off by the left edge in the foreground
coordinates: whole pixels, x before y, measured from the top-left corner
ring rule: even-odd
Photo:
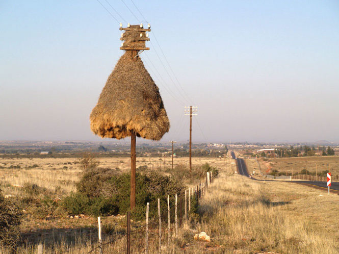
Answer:
[[[20,239],[20,210],[0,191],[0,247],[14,250]]]

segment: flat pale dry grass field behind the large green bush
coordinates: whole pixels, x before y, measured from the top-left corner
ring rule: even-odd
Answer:
[[[137,158],[136,166],[146,165],[153,170],[164,170],[162,158]],[[130,158],[97,158],[102,168],[116,168],[121,171],[130,170]],[[188,158],[174,158],[174,165],[188,164]],[[16,195],[18,188],[24,183],[37,184],[50,191],[60,189],[68,194],[75,190],[74,183],[79,181],[81,169],[79,159],[76,158],[47,158],[47,159],[4,159],[0,158],[0,188],[4,194]],[[161,162],[161,163],[160,163]],[[192,164],[201,165],[210,163],[220,168],[225,167],[225,159],[193,158]],[[171,167],[171,158],[166,158],[166,168]]]

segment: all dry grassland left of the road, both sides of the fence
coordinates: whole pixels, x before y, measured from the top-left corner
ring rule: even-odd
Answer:
[[[149,163],[147,159],[138,160],[137,166]],[[79,179],[80,169],[75,162],[75,159],[2,160],[0,165],[6,168],[0,171],[1,188],[5,194],[15,195],[21,188],[16,184],[31,181],[50,190],[60,186],[67,194],[75,189],[73,183]],[[167,238],[167,225],[163,225],[163,253],[338,253],[338,195],[297,184],[249,180],[234,174],[236,164],[231,159],[194,159],[195,164],[205,162],[219,166],[220,174],[200,200],[199,218],[192,217],[185,223],[177,237],[172,227],[171,241]],[[128,158],[102,158],[100,163],[102,167],[128,169]],[[38,166],[32,167],[34,164]],[[8,168],[11,165],[20,168]],[[150,253],[158,250],[157,223],[157,218],[151,218]],[[111,242],[104,246],[104,253],[125,252],[125,217],[105,217],[102,224],[103,242]],[[132,222],[132,253],[144,251],[144,224]],[[211,236],[212,241],[194,240],[194,234],[201,231]],[[21,232],[26,242],[42,239],[44,253],[84,253],[97,246],[97,221],[88,216],[76,219],[60,214],[37,218],[26,214]],[[18,253],[34,251],[34,244],[18,249]]]

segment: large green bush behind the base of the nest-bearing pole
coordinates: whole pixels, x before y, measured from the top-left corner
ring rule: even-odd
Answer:
[[[76,184],[77,192],[64,198],[62,206],[70,214],[88,215],[125,214],[129,211],[131,193],[131,174],[116,174],[115,170],[88,170]],[[174,202],[175,193],[184,190],[182,181],[155,171],[136,174],[136,207],[132,218],[141,220],[146,213],[146,204],[150,203],[149,216],[158,214],[158,198],[161,206],[167,207],[167,195]],[[166,210],[167,211],[167,210]],[[162,216],[166,217],[163,210]]]

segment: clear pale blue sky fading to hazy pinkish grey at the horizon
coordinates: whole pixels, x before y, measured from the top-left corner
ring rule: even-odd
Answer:
[[[119,22],[151,24],[162,141],[187,141],[193,105],[193,142],[339,142],[336,0],[0,0],[0,140],[102,140],[89,115]]]

